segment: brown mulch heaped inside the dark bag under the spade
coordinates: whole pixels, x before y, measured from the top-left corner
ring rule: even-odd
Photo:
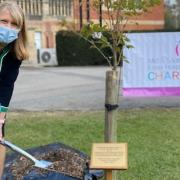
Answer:
[[[34,151],[34,156],[39,160],[43,159],[53,162],[53,165],[48,167],[50,170],[34,167],[30,160],[16,154],[16,158],[12,158],[13,160],[6,164],[5,172],[11,174],[14,180],[22,180],[31,172],[40,175],[59,172],[74,177],[74,179],[83,179],[86,163],[89,161],[86,155],[67,146],[62,146],[62,144],[58,148],[57,144],[56,148],[50,148],[49,145],[49,148],[46,147],[45,149],[43,152],[41,147],[41,152],[39,153]]]

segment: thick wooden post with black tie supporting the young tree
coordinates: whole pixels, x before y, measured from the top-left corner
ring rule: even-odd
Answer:
[[[105,97],[105,142],[117,142],[117,119],[119,76],[115,70],[106,72]],[[107,180],[107,178],[106,178]],[[117,180],[117,173],[113,171],[113,180]]]

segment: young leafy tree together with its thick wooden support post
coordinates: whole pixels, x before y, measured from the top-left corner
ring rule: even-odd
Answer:
[[[107,60],[111,70],[106,72],[105,142],[117,142],[119,79],[121,79],[123,48],[132,48],[125,31],[132,17],[141,15],[161,0],[93,0],[94,7],[103,9],[102,25],[90,22],[83,26],[81,36]],[[135,19],[135,18],[134,18]],[[119,67],[120,65],[120,67]],[[118,68],[119,67],[119,68]],[[118,69],[117,69],[118,68]],[[117,179],[113,173],[113,179]]]

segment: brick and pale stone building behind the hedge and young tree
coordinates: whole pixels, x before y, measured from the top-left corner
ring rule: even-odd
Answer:
[[[0,0],[10,1],[10,0]],[[79,30],[83,23],[101,22],[99,11],[92,7],[93,0],[11,0],[17,2],[26,14],[30,60],[37,59],[37,49],[54,48],[55,35],[66,20],[71,28]],[[138,22],[139,25],[134,22]],[[103,21],[102,21],[103,23]],[[152,30],[164,28],[164,3],[156,6],[128,24],[130,30]],[[35,61],[34,61],[35,62]],[[35,62],[37,63],[37,61]]]

